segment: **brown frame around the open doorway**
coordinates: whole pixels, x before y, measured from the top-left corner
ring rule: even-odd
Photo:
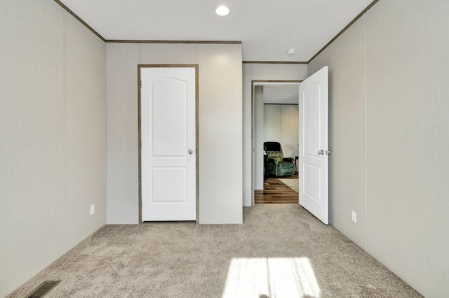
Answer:
[[[302,80],[251,80],[251,206],[254,206],[254,178],[255,178],[255,122],[254,122],[254,95],[255,86],[267,85],[297,85],[300,88]],[[300,108],[300,97],[298,96],[298,113]],[[263,104],[262,104],[263,105]],[[299,204],[299,199],[298,199]]]

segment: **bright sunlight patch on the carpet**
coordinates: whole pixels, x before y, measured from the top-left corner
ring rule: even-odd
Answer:
[[[319,296],[307,257],[259,257],[232,259],[222,298]]]

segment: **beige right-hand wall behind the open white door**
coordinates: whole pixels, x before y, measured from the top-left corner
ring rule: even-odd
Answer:
[[[332,82],[332,223],[425,297],[449,292],[448,19],[380,0],[311,62]]]

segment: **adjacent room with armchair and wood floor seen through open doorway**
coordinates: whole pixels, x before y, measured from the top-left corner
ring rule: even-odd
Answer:
[[[255,204],[298,202],[299,84],[272,81],[254,86],[254,141],[255,148],[263,149],[255,150],[257,164],[263,160],[262,173],[260,166],[255,169]],[[254,113],[261,108],[262,113]]]

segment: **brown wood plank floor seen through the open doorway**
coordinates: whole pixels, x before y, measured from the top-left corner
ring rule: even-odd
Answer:
[[[297,176],[284,178],[297,179]],[[279,181],[279,178],[270,177],[264,182],[264,190],[254,191],[254,202],[255,204],[294,204],[298,202],[298,194]]]

